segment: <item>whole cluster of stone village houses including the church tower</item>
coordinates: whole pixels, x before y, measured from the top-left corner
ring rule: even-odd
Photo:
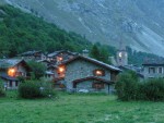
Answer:
[[[101,91],[110,94],[115,91],[118,74],[124,71],[133,71],[143,78],[163,77],[164,61],[147,61],[143,67],[128,64],[128,52],[119,49],[116,60],[109,65],[90,58],[85,49],[83,53],[66,50],[44,54],[42,51],[27,51],[17,54],[16,59],[0,60],[0,77],[4,81],[7,89],[19,86],[17,77],[31,77],[32,69],[27,60],[35,60],[46,65],[45,78],[51,81],[56,88],[67,91]]]

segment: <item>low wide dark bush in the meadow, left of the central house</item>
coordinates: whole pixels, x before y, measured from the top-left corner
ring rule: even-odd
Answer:
[[[19,96],[22,98],[33,99],[54,95],[55,93],[50,83],[25,82],[19,86]]]

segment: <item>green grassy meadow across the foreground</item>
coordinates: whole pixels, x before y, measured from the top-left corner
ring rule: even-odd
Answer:
[[[0,123],[164,123],[164,102],[121,102],[115,96],[58,94],[24,100],[0,98]]]

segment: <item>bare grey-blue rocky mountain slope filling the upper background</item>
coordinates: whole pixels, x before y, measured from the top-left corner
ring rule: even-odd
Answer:
[[[164,56],[164,0],[5,0],[91,41]]]

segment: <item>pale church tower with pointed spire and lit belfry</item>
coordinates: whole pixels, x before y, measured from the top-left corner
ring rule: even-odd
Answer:
[[[119,49],[117,50],[117,64],[119,66],[128,65],[128,52],[126,47],[122,45],[122,41],[119,44]]]

